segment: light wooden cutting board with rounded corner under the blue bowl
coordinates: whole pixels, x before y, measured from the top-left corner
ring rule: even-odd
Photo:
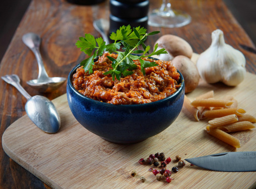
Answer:
[[[190,100],[209,90],[216,98],[234,96],[239,107],[256,116],[256,76],[246,74],[237,87],[223,84],[209,85],[200,81],[197,89],[187,96]],[[208,135],[206,120],[196,122],[186,109],[177,120],[160,134],[132,145],[109,143],[83,128],[74,118],[63,95],[53,103],[59,110],[61,129],[47,134],[38,129],[27,115],[9,126],[2,138],[5,152],[22,167],[53,188],[248,188],[255,186],[255,172],[215,172],[187,163],[178,173],[173,173],[171,183],[158,181],[140,158],[164,152],[172,158],[168,169],[177,166],[176,155],[182,159],[230,151],[256,151],[256,130],[233,133],[241,140],[235,149]],[[143,119],[143,118],[141,118]],[[157,125],[156,125],[157,127]],[[137,171],[135,177],[130,176]],[[140,177],[146,178],[142,183]]]

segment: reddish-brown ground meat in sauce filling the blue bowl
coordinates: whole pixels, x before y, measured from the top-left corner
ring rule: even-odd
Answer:
[[[164,99],[180,87],[177,83],[180,74],[170,61],[154,61],[158,66],[145,68],[146,75],[140,70],[140,62],[135,60],[137,69],[134,74],[112,80],[111,75],[103,75],[111,67],[106,56],[117,58],[115,54],[105,53],[93,65],[94,73],[89,75],[81,67],[77,68],[72,82],[76,90],[91,99],[111,104],[144,104]]]

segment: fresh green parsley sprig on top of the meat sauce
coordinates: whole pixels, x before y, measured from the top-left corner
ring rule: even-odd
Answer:
[[[121,76],[132,75],[134,69],[137,68],[137,65],[133,60],[140,61],[141,72],[145,75],[145,68],[157,66],[155,62],[146,61],[142,58],[151,57],[153,55],[166,54],[165,49],[157,50],[158,45],[156,44],[152,53],[149,53],[151,47],[145,45],[144,41],[147,36],[158,34],[159,31],[146,33],[146,29],[143,27],[137,27],[131,29],[131,26],[122,26],[116,33],[112,33],[110,39],[114,42],[108,45],[105,44],[105,41],[101,37],[94,38],[91,34],[85,34],[85,37],[80,37],[76,42],[77,48],[80,48],[85,54],[90,57],[83,60],[80,65],[83,66],[85,72],[89,74],[93,73],[94,59],[97,56],[101,56],[104,51],[109,53],[117,53],[117,59],[108,56],[112,61],[112,69],[109,69],[108,72],[105,72],[104,75],[110,74],[113,81],[115,78],[120,81]],[[123,45],[123,52],[117,51]],[[139,50],[139,46],[142,45],[143,50]],[[136,54],[136,55],[135,55]],[[137,55],[141,54],[141,55]]]

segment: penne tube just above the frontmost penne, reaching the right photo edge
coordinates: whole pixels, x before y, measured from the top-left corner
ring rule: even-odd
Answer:
[[[243,122],[237,122],[230,125],[226,125],[224,127],[221,127],[220,129],[230,133],[230,132],[243,131],[243,130],[248,130],[253,128],[255,128],[255,126],[251,122],[243,121]]]

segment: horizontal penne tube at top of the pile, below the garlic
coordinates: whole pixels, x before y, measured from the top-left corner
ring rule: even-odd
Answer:
[[[226,100],[219,100],[219,99],[196,99],[193,102],[191,102],[192,106],[198,107],[223,107],[228,108],[233,104],[232,101],[226,101]]]

